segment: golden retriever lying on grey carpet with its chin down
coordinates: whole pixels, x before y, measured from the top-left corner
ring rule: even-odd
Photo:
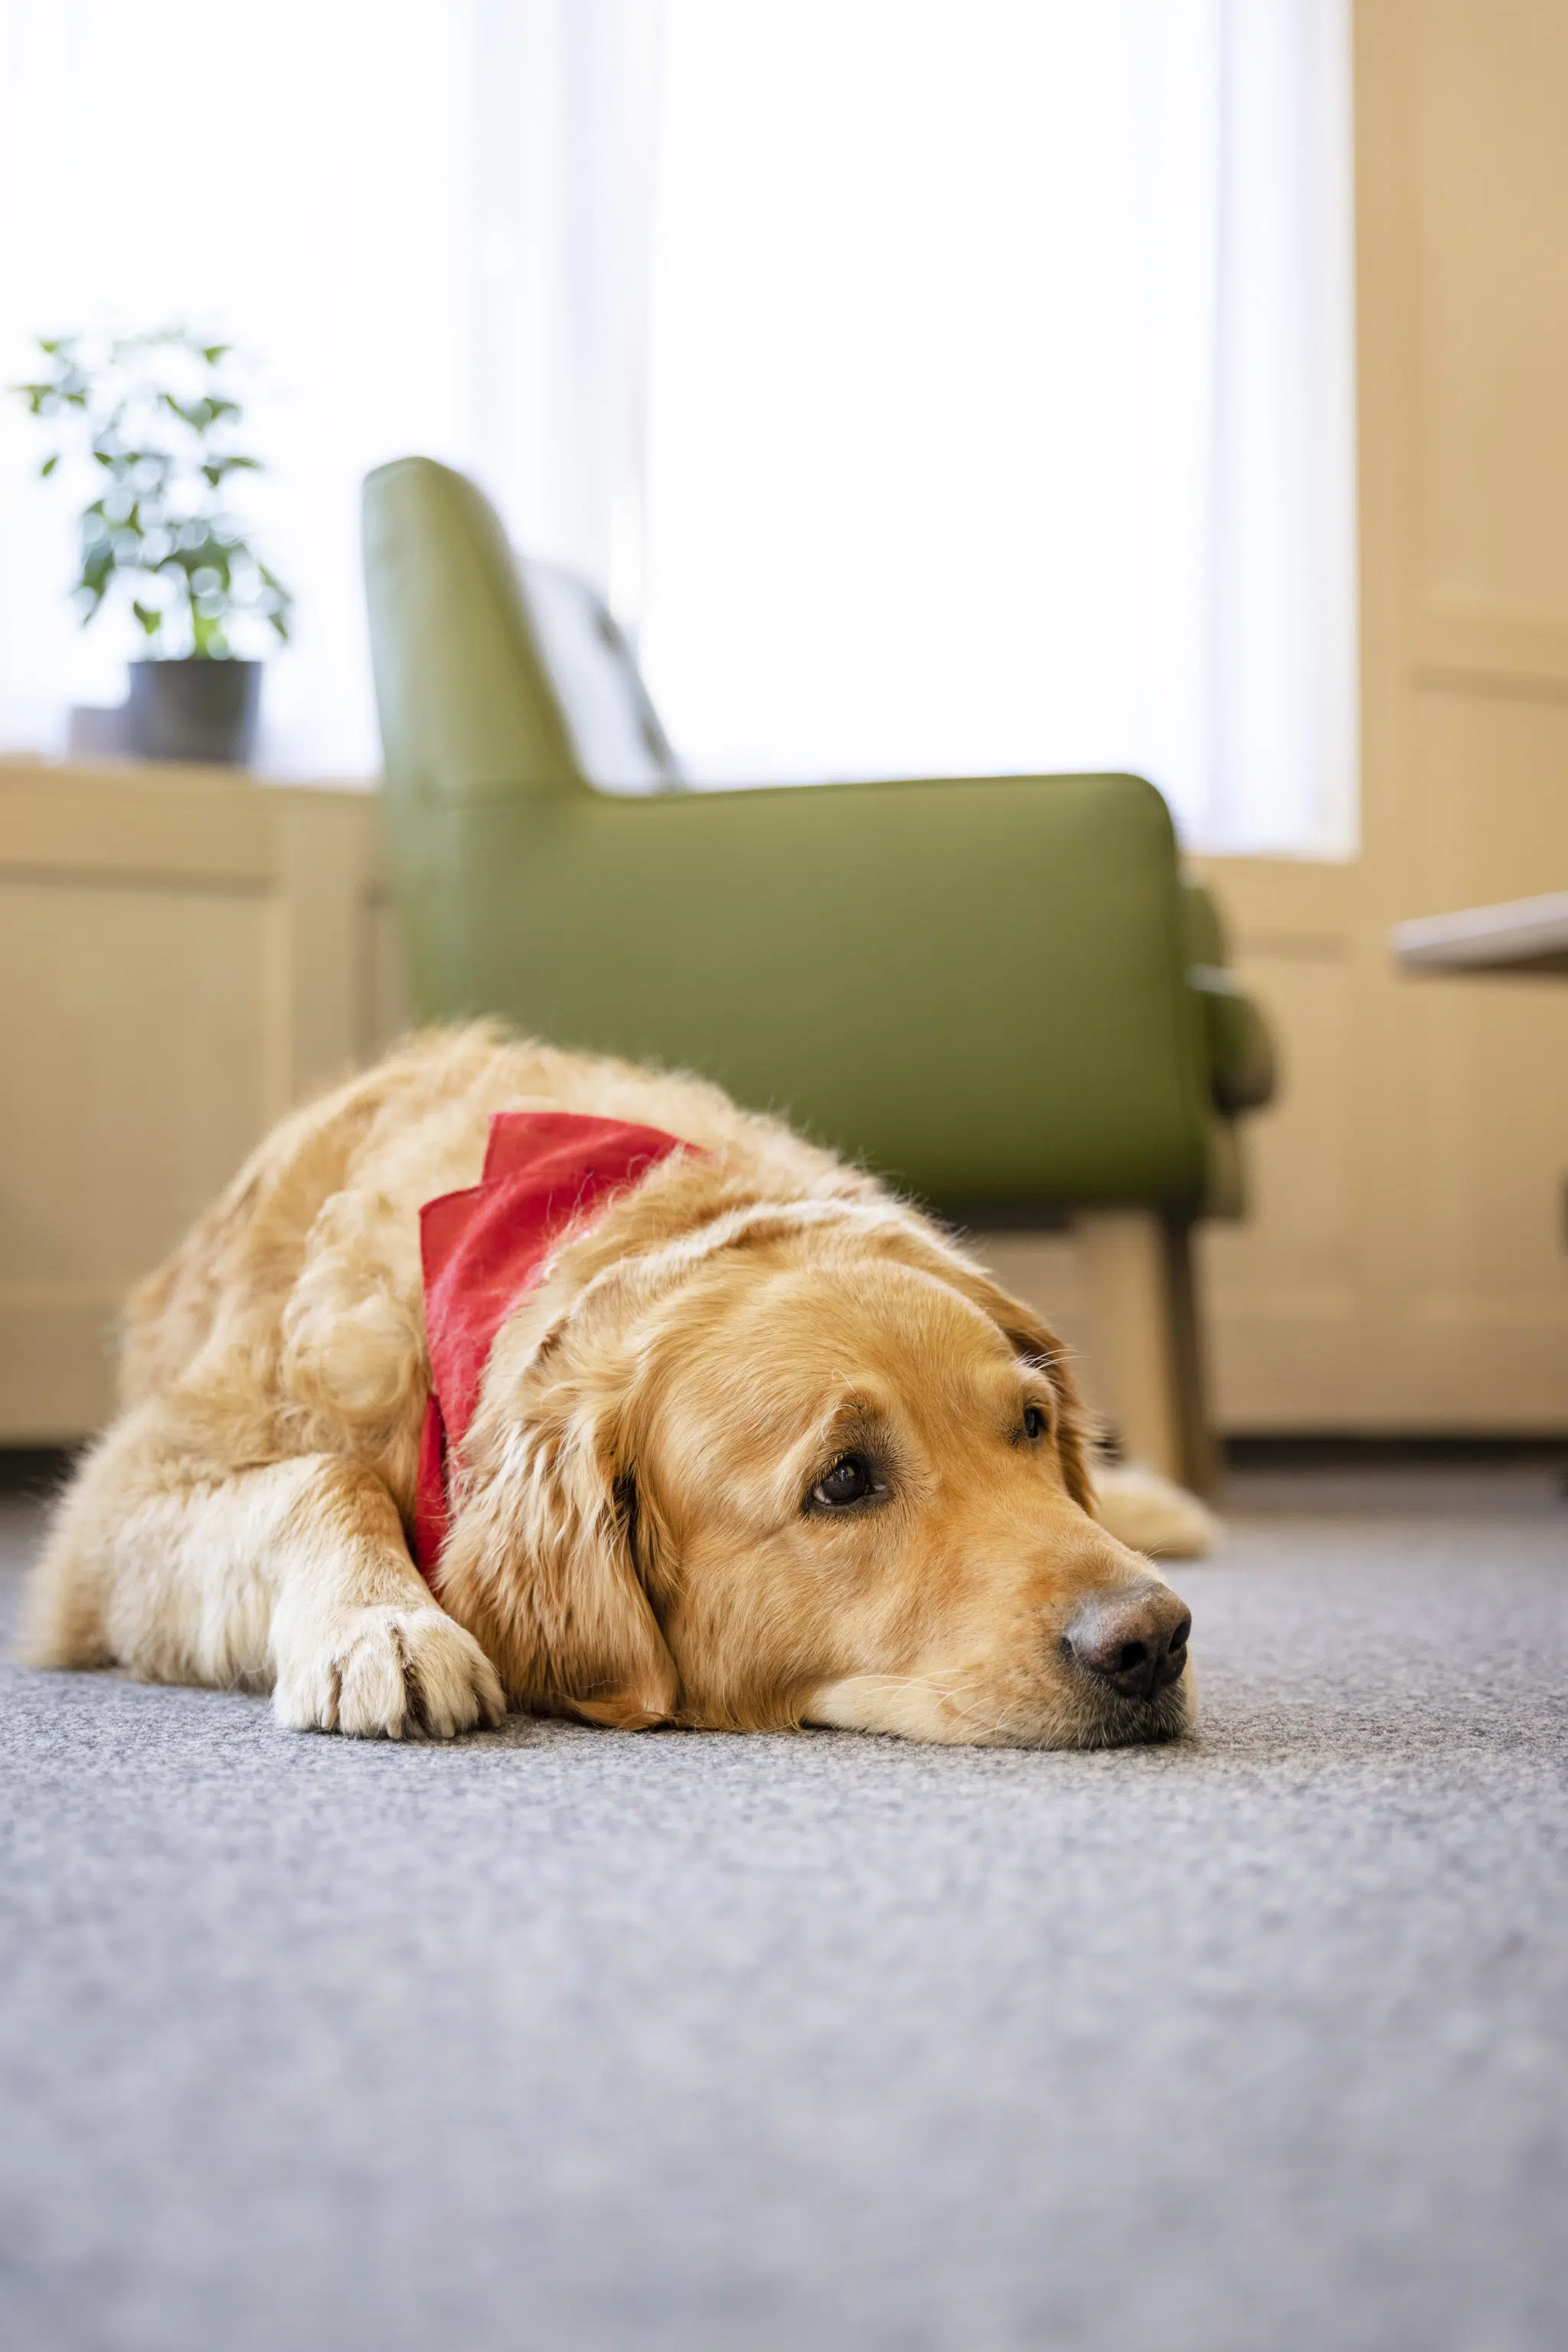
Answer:
[[[425,1576],[421,1230],[538,1112],[663,1157],[498,1301]],[[28,1651],[360,1736],[1093,1748],[1187,1729],[1187,1625],[1095,1510],[1051,1331],[936,1223],[696,1080],[470,1028],[287,1117],[134,1294]]]

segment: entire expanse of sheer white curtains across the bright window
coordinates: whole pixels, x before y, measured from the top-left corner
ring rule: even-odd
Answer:
[[[0,0],[0,376],[259,358],[277,774],[374,767],[357,482],[639,628],[705,781],[1138,767],[1354,826],[1347,0]],[[0,746],[134,647],[0,402]]]

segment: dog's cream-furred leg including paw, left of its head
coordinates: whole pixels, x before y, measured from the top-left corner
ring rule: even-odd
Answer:
[[[449,1738],[505,1715],[371,1470],[303,1454],[200,1477],[160,1444],[155,1406],[127,1414],[61,1501],[26,1649],[38,1665],[270,1689],[299,1731]]]

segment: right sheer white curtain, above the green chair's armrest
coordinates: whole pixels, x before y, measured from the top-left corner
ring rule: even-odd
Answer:
[[[703,776],[1354,823],[1345,0],[668,0],[644,659]]]

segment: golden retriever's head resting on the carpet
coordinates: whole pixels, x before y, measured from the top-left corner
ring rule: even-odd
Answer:
[[[592,1722],[1112,1745],[1190,1719],[1187,1611],[1093,1517],[1046,1327],[936,1228],[750,1204],[503,1331],[442,1597]]]

